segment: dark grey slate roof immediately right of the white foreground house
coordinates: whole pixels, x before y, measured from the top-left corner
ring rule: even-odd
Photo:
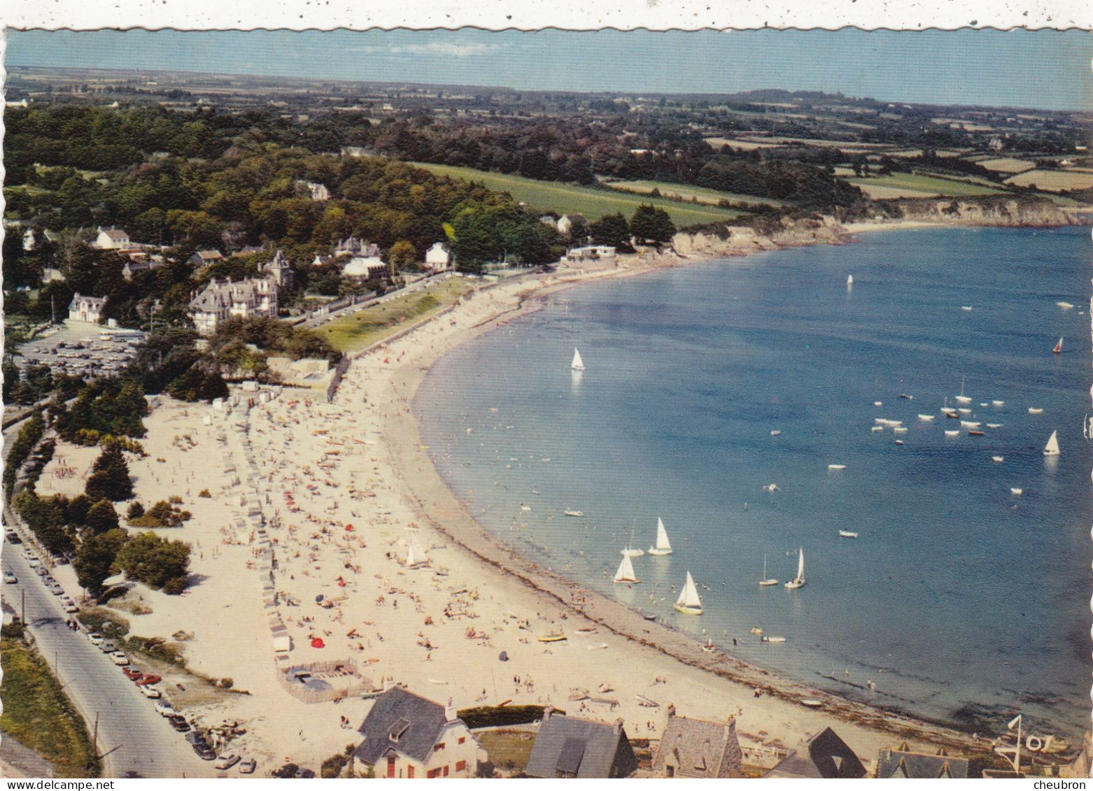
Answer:
[[[626,731],[606,722],[545,713],[524,774],[555,778],[628,777],[637,769]]]

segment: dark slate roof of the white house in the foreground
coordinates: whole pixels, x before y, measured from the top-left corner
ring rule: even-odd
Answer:
[[[402,687],[391,687],[376,698],[357,732],[364,736],[354,755],[365,764],[376,762],[393,747],[424,763],[448,723],[444,706]],[[393,732],[393,739],[392,739]]]

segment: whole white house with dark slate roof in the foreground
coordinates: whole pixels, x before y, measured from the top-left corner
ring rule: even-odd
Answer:
[[[377,778],[474,777],[485,751],[451,706],[402,687],[376,698],[357,732],[353,758],[375,768]]]

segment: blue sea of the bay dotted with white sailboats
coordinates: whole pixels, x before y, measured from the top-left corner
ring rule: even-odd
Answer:
[[[968,730],[1021,710],[1073,741],[1091,684],[1089,249],[1082,228],[878,232],[559,292],[433,367],[423,441],[520,552],[742,659]],[[985,436],[945,437],[947,399]],[[674,554],[614,585],[658,517]],[[764,558],[791,579],[799,550],[806,587],[757,585]],[[687,570],[702,616],[671,606]]]

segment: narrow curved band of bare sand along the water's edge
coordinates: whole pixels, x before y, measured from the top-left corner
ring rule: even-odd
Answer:
[[[720,257],[720,256],[718,256]],[[709,257],[689,258],[686,261],[673,262],[670,265],[683,265],[709,260]],[[657,271],[662,265],[646,265],[634,269],[609,271],[606,276],[631,276]],[[416,329],[408,332],[402,339],[380,349],[385,354],[400,353],[407,355],[391,373],[390,385],[393,388],[396,401],[412,404],[419,387],[432,365],[456,345],[460,345],[482,333],[495,329],[498,320],[510,320],[539,309],[545,297],[561,288],[573,287],[583,282],[598,281],[601,276],[583,276],[565,279],[564,276],[540,278],[538,284],[531,287],[512,287],[518,284],[501,284],[510,292],[508,300],[497,299],[497,305],[467,329],[453,333],[446,343],[432,344],[427,347],[414,347],[413,335]],[[522,284],[520,284],[522,285]],[[500,296],[496,292],[494,296]],[[475,297],[472,297],[472,300]],[[459,309],[457,306],[456,310]],[[435,319],[434,319],[435,320]],[[425,326],[425,324],[423,324]],[[403,339],[409,341],[403,347]],[[422,344],[419,344],[421,346]],[[365,352],[361,356],[366,356]],[[461,546],[479,562],[486,564],[496,572],[509,576],[545,599],[551,605],[560,606],[573,619],[586,619],[596,624],[631,644],[651,648],[683,664],[712,673],[734,684],[745,685],[748,689],[760,689],[789,704],[800,704],[804,699],[824,701],[821,712],[825,716],[853,722],[869,730],[892,734],[892,737],[926,740],[932,745],[945,746],[967,752],[983,752],[986,745],[971,739],[967,734],[955,731],[944,724],[929,723],[902,712],[893,712],[877,706],[870,706],[839,697],[833,693],[809,687],[806,684],[779,676],[726,653],[706,653],[701,650],[701,644],[663,623],[648,622],[639,613],[621,602],[597,591],[581,587],[561,574],[544,568],[507,546],[493,535],[467,510],[456,494],[449,488],[437,471],[433,459],[421,444],[416,417],[411,410],[397,410],[388,413],[381,434],[388,442],[392,462],[403,474],[400,476],[401,491],[404,499],[413,510],[431,527],[445,535],[451,542]],[[413,481],[408,480],[404,471],[415,470]],[[803,709],[802,709],[803,711]]]

